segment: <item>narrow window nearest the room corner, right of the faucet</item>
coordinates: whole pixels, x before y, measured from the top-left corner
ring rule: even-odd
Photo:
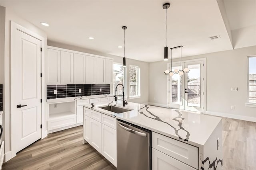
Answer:
[[[140,67],[130,65],[129,69],[130,98],[140,96]]]

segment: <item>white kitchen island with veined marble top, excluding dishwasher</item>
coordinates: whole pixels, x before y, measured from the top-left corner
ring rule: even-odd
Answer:
[[[191,170],[222,169],[222,119],[220,117],[132,102],[128,102],[125,107],[122,107],[128,109],[123,113],[113,113],[100,108],[102,106],[122,107],[122,101],[84,105],[84,142],[96,147],[103,156],[112,154],[110,162],[115,166],[116,155],[114,152],[116,150],[114,147],[116,143],[111,143],[112,151],[114,151],[107,154],[104,151],[105,144],[102,138],[101,141],[98,139],[98,144],[92,141],[92,133],[95,131],[92,130],[91,123],[95,123],[95,120],[102,123],[103,127],[105,125],[112,127],[113,140],[116,139],[116,134],[114,134],[116,119],[152,131],[152,169],[170,169],[171,167]],[[88,119],[92,120],[88,121]],[[107,119],[111,119],[112,123],[106,123]],[[94,127],[94,129],[98,127],[98,133],[100,133],[98,138],[104,135],[102,130],[100,131],[100,123]],[[91,131],[88,131],[90,128]],[[94,139],[95,136],[94,134]],[[108,157],[106,158],[108,159]]]

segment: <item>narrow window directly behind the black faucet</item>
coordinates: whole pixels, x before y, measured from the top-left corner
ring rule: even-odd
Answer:
[[[116,64],[114,63],[113,67],[113,94],[115,95],[123,95],[123,88],[122,86],[118,86],[116,91],[116,85],[117,84],[123,84],[124,89],[126,89],[126,69],[123,67],[123,64]],[[124,91],[124,96],[126,96],[126,91]],[[122,98],[122,96],[119,96],[118,98]]]

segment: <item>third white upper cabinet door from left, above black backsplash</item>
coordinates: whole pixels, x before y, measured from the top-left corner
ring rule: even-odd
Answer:
[[[85,84],[85,55],[74,53],[74,84]]]

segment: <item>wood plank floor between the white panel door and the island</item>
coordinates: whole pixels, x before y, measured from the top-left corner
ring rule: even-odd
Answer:
[[[89,144],[82,144],[82,126],[48,134],[3,164],[3,170],[116,170]]]

